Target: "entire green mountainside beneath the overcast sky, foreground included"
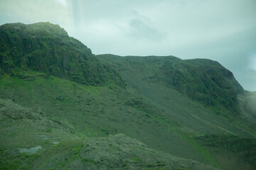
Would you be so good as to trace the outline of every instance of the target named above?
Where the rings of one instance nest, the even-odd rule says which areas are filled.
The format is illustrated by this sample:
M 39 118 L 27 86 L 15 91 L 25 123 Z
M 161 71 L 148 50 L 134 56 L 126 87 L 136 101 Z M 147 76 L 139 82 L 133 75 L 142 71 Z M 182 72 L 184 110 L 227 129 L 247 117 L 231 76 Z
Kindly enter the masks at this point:
M 0 26 L 0 169 L 255 169 L 255 93 L 212 60 L 93 55 Z

